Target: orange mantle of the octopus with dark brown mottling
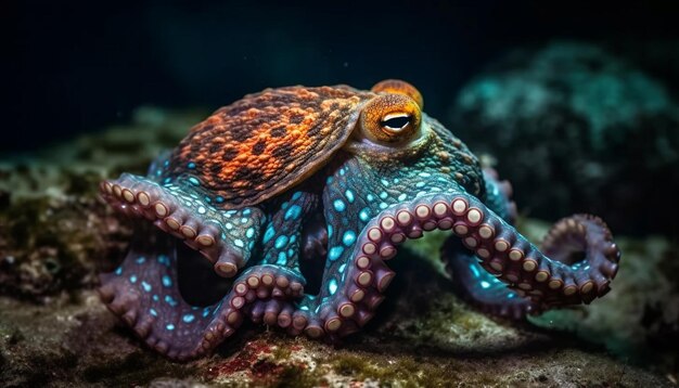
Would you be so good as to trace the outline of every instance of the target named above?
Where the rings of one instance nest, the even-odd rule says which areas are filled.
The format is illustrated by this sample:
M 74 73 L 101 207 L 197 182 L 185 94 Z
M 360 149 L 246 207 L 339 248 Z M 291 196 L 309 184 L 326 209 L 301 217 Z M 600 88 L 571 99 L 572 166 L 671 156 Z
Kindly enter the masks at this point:
M 346 86 L 248 94 L 191 129 L 172 154 L 172 173 L 194 176 L 228 207 L 260 203 L 322 167 L 372 96 Z

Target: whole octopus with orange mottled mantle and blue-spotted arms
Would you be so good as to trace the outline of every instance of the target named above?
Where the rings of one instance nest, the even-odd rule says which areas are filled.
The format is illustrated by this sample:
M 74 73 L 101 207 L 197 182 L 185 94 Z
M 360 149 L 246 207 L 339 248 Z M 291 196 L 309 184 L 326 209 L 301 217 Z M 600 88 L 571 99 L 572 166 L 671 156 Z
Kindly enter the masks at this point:
M 101 182 L 136 225 L 101 275 L 103 302 L 176 360 L 246 320 L 332 341 L 375 314 L 397 247 L 433 230 L 451 231 L 453 288 L 490 314 L 610 290 L 620 254 L 602 220 L 565 218 L 538 248 L 512 225 L 509 183 L 422 108 L 400 80 L 267 89 L 219 108 L 145 177 Z

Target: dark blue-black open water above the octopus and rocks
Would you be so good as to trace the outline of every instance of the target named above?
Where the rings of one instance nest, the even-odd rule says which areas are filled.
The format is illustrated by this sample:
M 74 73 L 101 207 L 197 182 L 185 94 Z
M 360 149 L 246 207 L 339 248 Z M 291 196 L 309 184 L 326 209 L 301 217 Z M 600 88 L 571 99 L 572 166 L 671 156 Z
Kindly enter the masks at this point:
M 446 122 L 459 88 L 512 48 L 580 39 L 643 59 L 646 43 L 677 41 L 678 15 L 658 0 L 3 1 L 0 155 L 126 122 L 140 105 L 215 108 L 297 83 L 402 78 Z M 677 86 L 663 64 L 646 70 Z

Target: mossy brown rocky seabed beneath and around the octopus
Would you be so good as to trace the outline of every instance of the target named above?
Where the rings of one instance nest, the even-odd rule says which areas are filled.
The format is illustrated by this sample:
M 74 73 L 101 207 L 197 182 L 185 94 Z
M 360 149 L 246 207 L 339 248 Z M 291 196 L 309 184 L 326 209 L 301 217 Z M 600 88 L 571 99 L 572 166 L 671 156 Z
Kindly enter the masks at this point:
M 0 160 L 0 386 L 676 386 L 679 249 L 659 236 L 616 235 L 624 260 L 606 298 L 523 324 L 453 295 L 435 233 L 392 261 L 381 313 L 342 344 L 252 325 L 190 363 L 145 349 L 93 292 L 131 233 L 97 183 L 143 172 L 203 115 L 142 108 L 129 126 Z

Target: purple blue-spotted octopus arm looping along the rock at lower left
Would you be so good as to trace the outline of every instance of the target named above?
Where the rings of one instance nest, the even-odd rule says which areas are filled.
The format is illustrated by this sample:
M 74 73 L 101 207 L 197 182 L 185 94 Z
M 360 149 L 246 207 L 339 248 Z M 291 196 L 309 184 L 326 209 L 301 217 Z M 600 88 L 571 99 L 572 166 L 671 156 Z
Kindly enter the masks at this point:
M 274 266 L 252 267 L 233 281 L 220 302 L 191 306 L 182 297 L 177 277 L 178 260 L 187 258 L 178 257 L 175 244 L 175 238 L 161 231 L 139 233 L 120 267 L 101 276 L 99 293 L 106 307 L 150 347 L 179 360 L 205 354 L 230 337 L 260 300 L 268 303 L 264 309 L 267 321 L 267 314 L 276 312 L 281 326 L 290 325 L 292 311 L 286 300 L 303 293 L 297 274 Z

